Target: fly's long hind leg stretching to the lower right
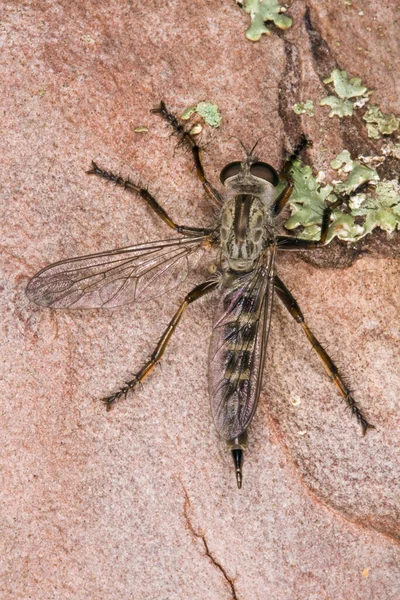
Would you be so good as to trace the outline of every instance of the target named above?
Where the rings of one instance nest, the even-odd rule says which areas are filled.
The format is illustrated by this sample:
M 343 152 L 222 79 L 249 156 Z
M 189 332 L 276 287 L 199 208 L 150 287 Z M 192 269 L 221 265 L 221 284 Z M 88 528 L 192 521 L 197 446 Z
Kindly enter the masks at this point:
M 300 325 L 302 326 L 304 333 L 308 338 L 308 341 L 312 345 L 315 352 L 318 354 L 319 358 L 322 360 L 326 372 L 338 388 L 340 394 L 344 398 L 352 414 L 355 415 L 357 421 L 360 423 L 363 435 L 366 434 L 367 429 L 375 429 L 375 426 L 368 423 L 367 419 L 364 417 L 361 410 L 358 408 L 356 401 L 354 400 L 351 394 L 351 391 L 344 383 L 335 363 L 329 357 L 327 352 L 324 350 L 320 342 L 317 340 L 313 332 L 308 327 L 307 323 L 304 321 L 303 313 L 301 312 L 300 307 L 297 304 L 295 298 L 289 292 L 289 290 L 281 281 L 281 279 L 279 279 L 279 277 L 277 276 L 275 276 L 275 290 L 280 300 L 286 306 L 292 317 L 295 319 L 295 321 L 297 321 L 297 323 L 300 323 Z

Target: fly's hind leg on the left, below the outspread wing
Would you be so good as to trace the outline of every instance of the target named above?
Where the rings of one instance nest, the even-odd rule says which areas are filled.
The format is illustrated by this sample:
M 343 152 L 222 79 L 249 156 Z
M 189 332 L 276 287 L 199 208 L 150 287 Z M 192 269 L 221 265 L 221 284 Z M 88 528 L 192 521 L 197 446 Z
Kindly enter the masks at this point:
M 134 375 L 134 377 L 130 381 L 127 381 L 126 384 L 123 387 L 121 387 L 120 390 L 118 390 L 118 392 L 115 392 L 115 394 L 112 394 L 111 396 L 102 399 L 103 402 L 105 402 L 105 404 L 107 405 L 107 410 L 110 410 L 114 402 L 116 400 L 119 400 L 121 396 L 126 397 L 130 390 L 133 390 L 138 383 L 144 381 L 147 375 L 149 375 L 149 373 L 154 369 L 156 364 L 160 362 L 164 351 L 167 347 L 167 344 L 175 329 L 177 328 L 178 323 L 181 320 L 181 317 L 186 308 L 189 306 L 189 304 L 192 304 L 192 302 L 195 302 L 199 298 L 202 298 L 206 294 L 212 292 L 218 285 L 219 282 L 215 280 L 205 281 L 204 283 L 197 285 L 195 288 L 193 288 L 191 292 L 189 292 L 186 295 L 184 301 L 172 317 L 171 321 L 168 324 L 168 327 L 165 329 L 164 333 L 159 339 L 157 346 L 155 347 L 155 350 L 150 356 L 149 360 L 143 365 L 143 367 Z

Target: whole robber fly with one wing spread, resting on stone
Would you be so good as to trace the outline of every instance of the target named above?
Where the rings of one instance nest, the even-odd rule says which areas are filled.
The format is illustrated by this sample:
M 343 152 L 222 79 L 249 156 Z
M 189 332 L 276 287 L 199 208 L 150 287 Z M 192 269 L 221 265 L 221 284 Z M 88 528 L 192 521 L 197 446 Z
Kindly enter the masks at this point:
M 293 190 L 290 170 L 307 145 L 302 139 L 278 173 L 260 162 L 252 150 L 243 161 L 226 165 L 220 179 L 223 194 L 206 178 L 201 149 L 164 102 L 153 109 L 172 127 L 180 142 L 190 148 L 203 188 L 218 206 L 214 227 L 203 229 L 177 225 L 145 188 L 123 179 L 92 162 L 88 171 L 140 196 L 176 233 L 178 238 L 128 246 L 63 260 L 42 269 L 27 287 L 28 297 L 50 308 L 112 308 L 148 300 L 182 283 L 206 249 L 216 249 L 217 273 L 192 289 L 165 329 L 150 359 L 117 392 L 104 398 L 107 409 L 126 397 L 161 360 L 186 308 L 207 294 L 217 297 L 209 361 L 211 412 L 216 430 L 231 450 L 237 485 L 242 486 L 243 453 L 247 430 L 261 392 L 272 303 L 276 294 L 301 325 L 361 425 L 363 434 L 373 428 L 358 408 L 335 364 L 304 321 L 303 314 L 275 272 L 275 257 L 285 250 L 319 248 L 326 243 L 331 209 L 324 211 L 318 241 L 276 234 L 276 219 Z M 276 187 L 283 181 L 283 191 Z

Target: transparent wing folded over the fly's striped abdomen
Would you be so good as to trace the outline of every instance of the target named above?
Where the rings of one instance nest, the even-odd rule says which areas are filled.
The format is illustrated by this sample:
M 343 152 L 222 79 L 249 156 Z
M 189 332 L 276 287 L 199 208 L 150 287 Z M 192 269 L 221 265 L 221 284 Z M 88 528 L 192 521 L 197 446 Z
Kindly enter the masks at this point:
M 232 440 L 257 408 L 273 300 L 273 256 L 222 290 L 210 345 L 210 398 L 215 427 Z

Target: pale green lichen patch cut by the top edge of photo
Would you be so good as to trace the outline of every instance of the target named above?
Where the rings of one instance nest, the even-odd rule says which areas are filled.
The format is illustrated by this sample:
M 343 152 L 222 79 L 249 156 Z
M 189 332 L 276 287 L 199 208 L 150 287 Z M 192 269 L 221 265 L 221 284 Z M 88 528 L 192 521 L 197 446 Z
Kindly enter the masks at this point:
M 270 34 L 270 30 L 265 26 L 268 21 L 272 21 L 279 29 L 288 29 L 292 25 L 292 19 L 282 14 L 285 9 L 280 6 L 278 0 L 244 0 L 238 4 L 250 14 L 251 25 L 246 31 L 246 37 L 252 42 L 257 42 L 262 34 Z

